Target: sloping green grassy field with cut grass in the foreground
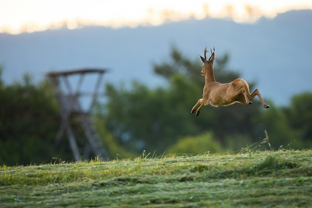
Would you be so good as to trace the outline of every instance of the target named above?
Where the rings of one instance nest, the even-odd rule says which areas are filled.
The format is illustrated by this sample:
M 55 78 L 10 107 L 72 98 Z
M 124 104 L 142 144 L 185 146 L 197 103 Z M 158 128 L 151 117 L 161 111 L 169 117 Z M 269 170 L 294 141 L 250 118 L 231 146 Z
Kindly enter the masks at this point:
M 311 208 L 312 151 L 0 167 L 1 208 Z

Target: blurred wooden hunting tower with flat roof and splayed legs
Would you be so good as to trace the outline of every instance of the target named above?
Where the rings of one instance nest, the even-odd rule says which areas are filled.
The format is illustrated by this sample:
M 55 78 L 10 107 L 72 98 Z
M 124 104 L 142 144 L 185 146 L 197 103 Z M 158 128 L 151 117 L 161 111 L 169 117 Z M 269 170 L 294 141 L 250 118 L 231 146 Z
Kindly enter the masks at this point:
M 98 97 L 99 87 L 105 72 L 107 72 L 106 69 L 78 69 L 47 73 L 50 82 L 55 88 L 55 96 L 61 107 L 62 122 L 56 136 L 56 141 L 60 141 L 64 132 L 66 132 L 75 161 L 81 160 L 82 156 L 87 158 L 92 153 L 95 156 L 100 155 L 104 159 L 108 158 L 104 144 L 93 127 L 91 120 L 91 110 Z M 93 78 L 96 75 L 95 80 L 88 83 L 88 86 L 94 86 L 94 89 L 93 92 L 84 92 L 82 84 L 85 75 L 89 74 L 92 74 Z M 74 84 L 70 82 L 72 77 L 78 78 L 75 88 L 72 87 Z M 83 99 L 80 99 L 82 96 L 91 96 L 91 103 L 87 109 L 82 108 Z M 79 147 L 77 144 L 70 117 L 77 118 L 76 120 L 81 124 L 86 136 L 86 142 L 83 147 Z

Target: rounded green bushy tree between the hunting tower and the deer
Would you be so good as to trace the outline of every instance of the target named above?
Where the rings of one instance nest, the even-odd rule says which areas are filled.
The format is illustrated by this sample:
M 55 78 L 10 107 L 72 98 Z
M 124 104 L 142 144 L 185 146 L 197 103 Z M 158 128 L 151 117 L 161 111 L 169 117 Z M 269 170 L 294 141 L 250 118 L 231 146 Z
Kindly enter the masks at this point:
M 189 91 L 180 91 L 184 88 Z M 177 137 L 196 134 L 189 112 L 183 112 L 182 101 L 198 90 L 189 81 L 176 75 L 168 89 L 149 89 L 138 82 L 133 82 L 131 89 L 106 87 L 107 128 L 124 147 L 136 152 L 163 152 Z

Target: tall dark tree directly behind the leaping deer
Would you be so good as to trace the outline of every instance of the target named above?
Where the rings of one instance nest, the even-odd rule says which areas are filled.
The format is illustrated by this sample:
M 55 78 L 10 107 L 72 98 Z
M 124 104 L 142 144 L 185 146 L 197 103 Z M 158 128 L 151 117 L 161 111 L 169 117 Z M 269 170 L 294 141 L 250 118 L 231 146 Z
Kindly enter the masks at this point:
M 216 57 L 214 61 L 214 74 L 216 81 L 220 83 L 231 82 L 240 77 L 237 71 L 228 68 L 229 54 Z M 181 74 L 185 79 L 189 80 L 193 85 L 199 88 L 200 95 L 193 99 L 189 104 L 189 111 L 193 105 L 201 98 L 202 88 L 205 79 L 200 75 L 202 62 L 200 58 L 189 60 L 183 56 L 176 47 L 172 47 L 170 60 L 162 63 L 154 63 L 154 71 L 157 75 L 165 78 L 169 83 L 175 74 Z M 253 90 L 255 83 L 250 83 L 250 89 Z M 185 101 L 183 101 L 185 102 Z M 251 138 L 259 138 L 254 132 L 254 118 L 261 113 L 262 106 L 259 100 L 253 100 L 253 105 L 234 104 L 227 107 L 204 107 L 201 115 L 196 119 L 196 126 L 199 132 L 213 131 L 221 142 L 225 143 L 225 137 L 229 134 L 246 134 Z M 205 115 L 203 113 L 206 113 Z M 247 133 L 246 133 L 247 132 Z

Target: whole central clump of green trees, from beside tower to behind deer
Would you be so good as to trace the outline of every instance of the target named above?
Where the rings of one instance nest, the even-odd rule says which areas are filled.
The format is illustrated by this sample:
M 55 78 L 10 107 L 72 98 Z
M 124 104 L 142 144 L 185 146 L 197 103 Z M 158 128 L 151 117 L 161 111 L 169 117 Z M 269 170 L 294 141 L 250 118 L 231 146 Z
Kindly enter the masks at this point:
M 228 54 L 216 58 L 217 81 L 229 82 L 239 77 L 238 72 L 228 69 L 228 59 Z M 261 113 L 262 106 L 256 99 L 253 105 L 206 106 L 200 116 L 190 114 L 202 97 L 201 65 L 199 57 L 190 60 L 173 47 L 170 60 L 154 63 L 156 74 L 168 81 L 167 87 L 150 89 L 139 82 L 133 82 L 130 88 L 108 84 L 107 129 L 121 145 L 138 153 L 156 150 L 161 154 L 179 138 L 207 131 L 214 132 L 215 139 L 223 145 L 231 134 L 258 139 L 253 120 Z

